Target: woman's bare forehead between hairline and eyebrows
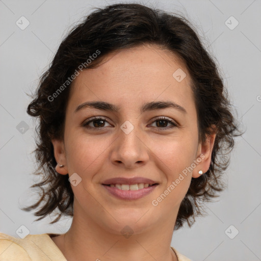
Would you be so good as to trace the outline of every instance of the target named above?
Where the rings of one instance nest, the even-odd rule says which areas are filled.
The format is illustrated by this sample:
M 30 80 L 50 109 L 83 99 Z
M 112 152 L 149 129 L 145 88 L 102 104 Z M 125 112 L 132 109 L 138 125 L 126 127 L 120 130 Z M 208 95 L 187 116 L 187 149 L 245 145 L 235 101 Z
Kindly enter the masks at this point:
M 185 105 L 193 100 L 184 62 L 155 45 L 122 49 L 106 56 L 98 67 L 80 72 L 70 96 L 70 103 L 110 99 L 125 105 L 171 98 Z

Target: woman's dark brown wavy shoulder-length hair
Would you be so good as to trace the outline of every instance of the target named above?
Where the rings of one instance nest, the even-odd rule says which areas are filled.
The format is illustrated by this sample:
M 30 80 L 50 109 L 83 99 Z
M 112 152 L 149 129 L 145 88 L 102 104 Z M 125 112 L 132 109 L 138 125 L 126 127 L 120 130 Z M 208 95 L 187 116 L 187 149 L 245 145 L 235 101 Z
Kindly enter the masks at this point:
M 56 95 L 55 101 L 50 97 L 59 88 L 61 90 L 79 65 L 86 63 L 97 50 L 99 56 L 85 69 L 98 66 L 113 51 L 141 44 L 156 44 L 170 50 L 185 63 L 192 79 L 199 140 L 204 141 L 213 132 L 211 126 L 216 126 L 210 168 L 200 177 L 192 178 L 180 204 L 174 229 L 181 227 L 184 221 L 191 226 L 195 216 L 203 213 L 202 202 L 209 201 L 224 189 L 222 174 L 229 165 L 233 137 L 241 134 L 237 133 L 238 123 L 232 115 L 232 105 L 214 59 L 186 18 L 140 4 L 115 4 L 96 8 L 74 25 L 60 44 L 49 68 L 40 77 L 28 106 L 28 114 L 39 118 L 35 149 L 38 168 L 34 174 L 40 176 L 41 182 L 31 188 L 40 189 L 41 196 L 38 202 L 22 210 L 34 210 L 43 203 L 34 213 L 40 217 L 37 221 L 55 210 L 59 210 L 58 217 L 50 223 L 59 221 L 62 215 L 73 216 L 74 195 L 69 176 L 55 170 L 57 162 L 51 143 L 51 139 L 63 139 L 71 84 Z

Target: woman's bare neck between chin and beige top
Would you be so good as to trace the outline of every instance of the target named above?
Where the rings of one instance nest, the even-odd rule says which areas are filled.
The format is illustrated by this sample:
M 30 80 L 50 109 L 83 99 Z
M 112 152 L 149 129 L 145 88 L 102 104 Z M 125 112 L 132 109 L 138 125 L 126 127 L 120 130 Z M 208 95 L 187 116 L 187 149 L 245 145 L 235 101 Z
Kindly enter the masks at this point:
M 154 224 L 153 227 L 146 227 L 146 230 L 138 227 L 139 222 L 131 226 L 120 226 L 124 228 L 118 231 L 123 233 L 101 227 L 97 222 L 82 217 L 74 209 L 70 229 L 59 240 L 53 239 L 68 261 L 177 260 L 170 248 L 174 227 L 170 217 L 160 220 L 160 224 Z

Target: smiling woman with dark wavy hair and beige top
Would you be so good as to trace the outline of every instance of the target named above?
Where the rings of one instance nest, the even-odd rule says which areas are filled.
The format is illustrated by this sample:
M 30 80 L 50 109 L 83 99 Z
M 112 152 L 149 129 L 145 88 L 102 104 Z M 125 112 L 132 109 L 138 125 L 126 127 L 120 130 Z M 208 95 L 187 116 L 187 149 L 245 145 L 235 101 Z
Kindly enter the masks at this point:
M 2 233 L 0 260 L 190 260 L 173 230 L 222 190 L 239 134 L 188 21 L 138 4 L 97 9 L 61 43 L 28 113 L 40 118 L 43 193 L 24 210 L 45 201 L 38 220 L 57 208 L 51 223 L 73 219 L 64 234 Z

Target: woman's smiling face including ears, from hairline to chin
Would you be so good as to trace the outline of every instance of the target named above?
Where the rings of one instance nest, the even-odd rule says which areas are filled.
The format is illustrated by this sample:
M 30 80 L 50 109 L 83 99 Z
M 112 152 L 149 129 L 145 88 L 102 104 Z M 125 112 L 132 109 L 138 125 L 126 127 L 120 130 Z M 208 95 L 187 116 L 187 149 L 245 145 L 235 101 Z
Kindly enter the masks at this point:
M 111 106 L 87 105 L 95 101 Z M 186 67 L 151 45 L 117 51 L 82 71 L 71 89 L 64 139 L 53 140 L 65 165 L 57 171 L 76 173 L 74 217 L 116 234 L 126 225 L 136 233 L 174 227 L 192 176 L 210 165 L 213 142 L 198 141 Z

